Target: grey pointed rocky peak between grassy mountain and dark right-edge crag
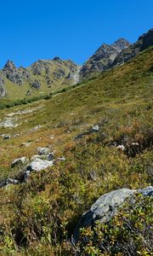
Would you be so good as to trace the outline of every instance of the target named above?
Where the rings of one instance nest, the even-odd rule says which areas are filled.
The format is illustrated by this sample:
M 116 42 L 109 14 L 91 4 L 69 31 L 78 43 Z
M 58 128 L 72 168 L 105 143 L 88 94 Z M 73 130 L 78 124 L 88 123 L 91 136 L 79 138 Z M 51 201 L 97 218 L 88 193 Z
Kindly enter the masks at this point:
M 114 44 L 102 44 L 99 49 L 96 50 L 88 61 L 86 61 L 80 70 L 80 79 L 85 79 L 89 76 L 95 75 L 105 71 L 116 58 L 122 49 L 127 49 L 129 43 L 126 39 L 119 38 Z

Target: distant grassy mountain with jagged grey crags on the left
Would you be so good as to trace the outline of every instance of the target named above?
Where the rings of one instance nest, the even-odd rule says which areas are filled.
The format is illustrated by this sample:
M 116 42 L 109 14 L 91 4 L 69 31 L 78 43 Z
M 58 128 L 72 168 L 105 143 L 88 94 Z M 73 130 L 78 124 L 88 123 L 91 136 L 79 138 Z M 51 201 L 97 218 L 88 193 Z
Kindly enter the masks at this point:
M 77 84 L 80 67 L 72 61 L 39 60 L 30 67 L 15 67 L 7 61 L 0 72 L 0 96 L 8 98 L 48 94 L 54 90 Z

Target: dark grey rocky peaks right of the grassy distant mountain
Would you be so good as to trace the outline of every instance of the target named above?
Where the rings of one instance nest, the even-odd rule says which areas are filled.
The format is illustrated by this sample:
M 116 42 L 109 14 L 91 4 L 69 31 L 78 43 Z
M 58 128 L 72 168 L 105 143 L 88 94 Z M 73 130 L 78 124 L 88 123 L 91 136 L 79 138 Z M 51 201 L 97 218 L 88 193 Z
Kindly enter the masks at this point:
M 102 44 L 95 54 L 86 61 L 80 70 L 80 80 L 94 77 L 109 68 L 122 65 L 153 45 L 153 29 L 144 33 L 134 44 L 120 38 L 114 44 Z

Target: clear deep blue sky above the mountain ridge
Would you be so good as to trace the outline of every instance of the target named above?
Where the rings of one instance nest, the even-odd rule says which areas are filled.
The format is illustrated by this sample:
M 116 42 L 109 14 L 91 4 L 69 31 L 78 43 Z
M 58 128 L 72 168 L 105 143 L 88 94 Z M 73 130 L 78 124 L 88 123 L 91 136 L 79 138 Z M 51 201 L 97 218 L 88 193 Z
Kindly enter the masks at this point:
M 8 0 L 0 9 L 0 67 L 55 55 L 82 64 L 101 44 L 134 42 L 153 26 L 153 0 Z

